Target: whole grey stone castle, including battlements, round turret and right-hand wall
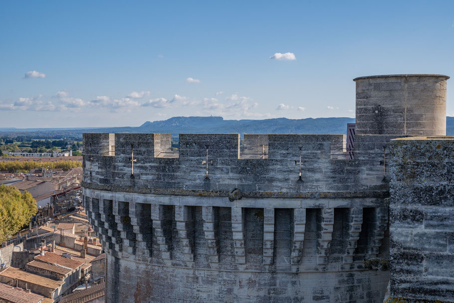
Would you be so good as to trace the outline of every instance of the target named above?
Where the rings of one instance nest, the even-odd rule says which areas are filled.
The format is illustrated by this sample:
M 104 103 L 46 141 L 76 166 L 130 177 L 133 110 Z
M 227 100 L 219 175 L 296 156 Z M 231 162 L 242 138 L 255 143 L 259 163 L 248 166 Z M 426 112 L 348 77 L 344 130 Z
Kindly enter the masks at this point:
M 84 134 L 107 302 L 381 303 L 390 273 L 393 298 L 454 301 L 453 217 L 437 225 L 454 214 L 447 79 L 356 78 L 353 148 L 346 135 L 180 134 L 175 151 L 170 134 Z

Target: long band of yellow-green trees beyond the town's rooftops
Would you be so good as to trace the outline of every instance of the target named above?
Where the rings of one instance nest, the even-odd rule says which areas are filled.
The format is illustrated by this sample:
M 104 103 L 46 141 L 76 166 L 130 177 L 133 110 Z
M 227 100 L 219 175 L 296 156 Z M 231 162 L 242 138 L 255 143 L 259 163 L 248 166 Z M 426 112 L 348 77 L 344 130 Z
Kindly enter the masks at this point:
M 44 168 L 61 168 L 68 170 L 74 167 L 82 167 L 82 162 L 72 160 L 59 160 L 53 162 L 42 161 L 3 161 L 0 162 L 0 171 L 7 171 L 9 173 L 29 172 L 31 169 L 44 167 Z M 1 221 L 0 221 L 1 223 Z

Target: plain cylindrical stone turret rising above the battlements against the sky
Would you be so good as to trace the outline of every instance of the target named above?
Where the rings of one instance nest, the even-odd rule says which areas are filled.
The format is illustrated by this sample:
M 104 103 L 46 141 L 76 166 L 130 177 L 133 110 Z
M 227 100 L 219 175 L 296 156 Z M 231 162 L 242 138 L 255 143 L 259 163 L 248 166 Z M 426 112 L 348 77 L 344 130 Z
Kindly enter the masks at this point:
M 446 135 L 446 80 L 437 74 L 358 77 L 356 134 Z

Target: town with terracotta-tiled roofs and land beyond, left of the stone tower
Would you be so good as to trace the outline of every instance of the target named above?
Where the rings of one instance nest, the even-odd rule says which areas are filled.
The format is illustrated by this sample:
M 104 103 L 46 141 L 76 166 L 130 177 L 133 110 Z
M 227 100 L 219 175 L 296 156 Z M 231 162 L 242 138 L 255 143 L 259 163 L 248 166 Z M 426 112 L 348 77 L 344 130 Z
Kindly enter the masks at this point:
M 37 207 L 1 243 L 0 302 L 104 301 L 105 255 L 82 208 L 81 153 L 75 139 L 0 136 L 0 190 L 29 193 Z

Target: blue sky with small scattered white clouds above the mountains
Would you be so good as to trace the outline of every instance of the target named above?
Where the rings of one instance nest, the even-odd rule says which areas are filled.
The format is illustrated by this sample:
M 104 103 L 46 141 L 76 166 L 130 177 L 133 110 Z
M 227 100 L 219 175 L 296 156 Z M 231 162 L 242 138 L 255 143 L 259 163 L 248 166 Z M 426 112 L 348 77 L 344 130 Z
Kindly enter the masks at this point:
M 453 50 L 451 0 L 0 0 L 0 127 L 354 117 L 353 78 L 454 76 Z

